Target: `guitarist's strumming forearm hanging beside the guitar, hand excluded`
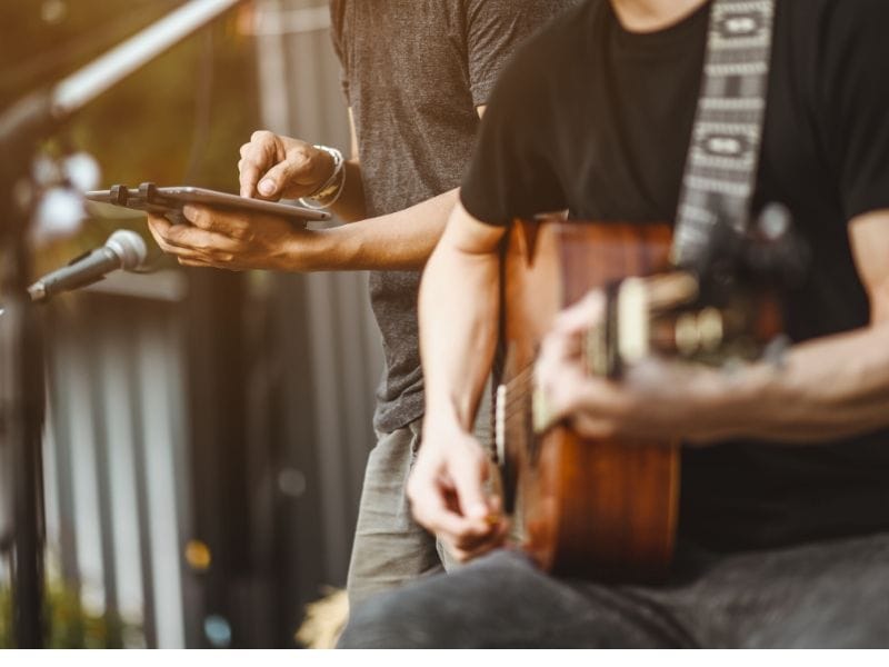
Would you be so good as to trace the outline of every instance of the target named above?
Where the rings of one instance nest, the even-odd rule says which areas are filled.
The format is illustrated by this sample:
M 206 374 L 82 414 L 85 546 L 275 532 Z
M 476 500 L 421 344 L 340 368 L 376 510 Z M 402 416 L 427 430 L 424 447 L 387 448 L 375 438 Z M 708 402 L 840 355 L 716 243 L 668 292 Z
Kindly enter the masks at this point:
M 499 256 L 467 251 L 450 229 L 423 275 L 420 351 L 427 419 L 456 419 L 469 431 L 496 347 Z

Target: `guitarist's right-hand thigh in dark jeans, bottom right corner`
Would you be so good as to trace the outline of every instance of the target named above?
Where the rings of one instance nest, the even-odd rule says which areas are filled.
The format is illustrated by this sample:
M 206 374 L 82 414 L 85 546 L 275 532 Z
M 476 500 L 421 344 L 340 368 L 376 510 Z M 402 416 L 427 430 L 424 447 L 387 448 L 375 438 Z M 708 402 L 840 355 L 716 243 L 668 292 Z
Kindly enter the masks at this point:
M 713 559 L 656 596 L 710 647 L 889 646 L 889 534 Z

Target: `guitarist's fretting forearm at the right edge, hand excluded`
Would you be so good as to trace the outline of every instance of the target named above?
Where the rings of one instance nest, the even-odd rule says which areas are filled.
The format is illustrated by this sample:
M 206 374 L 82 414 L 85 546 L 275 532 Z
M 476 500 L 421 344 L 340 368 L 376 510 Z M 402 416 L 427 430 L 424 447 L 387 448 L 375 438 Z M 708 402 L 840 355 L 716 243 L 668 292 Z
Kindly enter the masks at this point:
M 889 426 L 889 322 L 795 346 L 727 391 L 732 435 L 805 444 Z

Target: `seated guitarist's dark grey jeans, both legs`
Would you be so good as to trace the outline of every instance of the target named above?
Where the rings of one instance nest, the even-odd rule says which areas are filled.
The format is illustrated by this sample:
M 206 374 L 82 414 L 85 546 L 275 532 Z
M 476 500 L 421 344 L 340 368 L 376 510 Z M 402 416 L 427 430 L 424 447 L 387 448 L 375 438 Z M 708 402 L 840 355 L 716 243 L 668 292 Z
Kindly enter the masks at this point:
M 354 610 L 341 648 L 889 647 L 889 534 L 715 555 L 662 586 L 559 580 L 498 551 Z

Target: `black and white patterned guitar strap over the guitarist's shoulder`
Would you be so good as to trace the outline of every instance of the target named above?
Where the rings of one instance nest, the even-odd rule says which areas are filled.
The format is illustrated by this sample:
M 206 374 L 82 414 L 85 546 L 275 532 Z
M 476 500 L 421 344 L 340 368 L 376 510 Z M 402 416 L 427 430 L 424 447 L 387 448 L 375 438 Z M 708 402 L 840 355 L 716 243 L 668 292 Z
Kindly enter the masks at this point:
M 713 0 L 672 260 L 705 251 L 713 229 L 747 229 L 771 62 L 775 0 Z

